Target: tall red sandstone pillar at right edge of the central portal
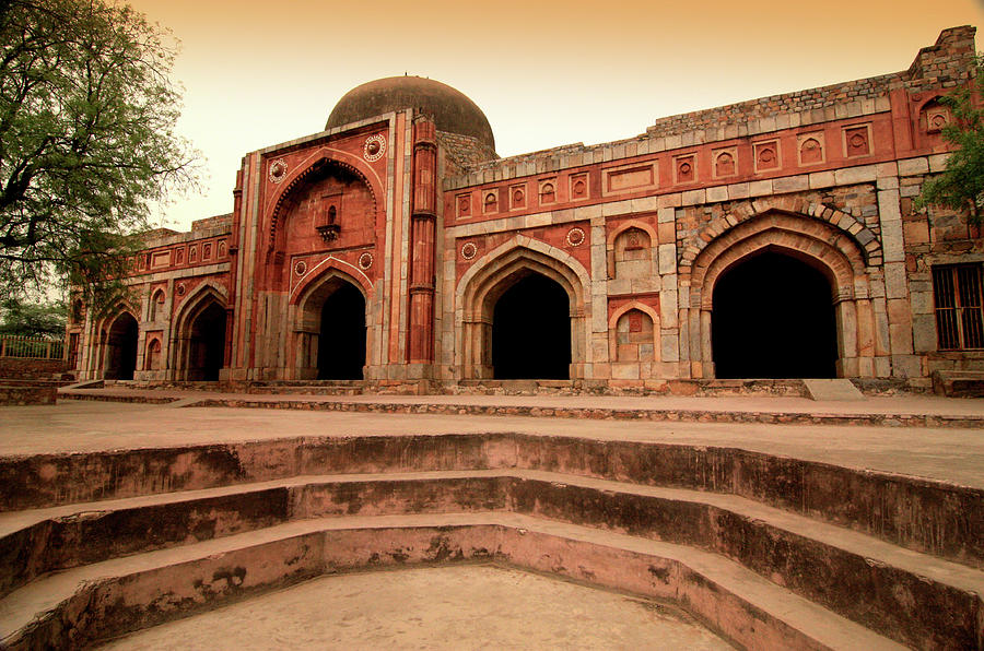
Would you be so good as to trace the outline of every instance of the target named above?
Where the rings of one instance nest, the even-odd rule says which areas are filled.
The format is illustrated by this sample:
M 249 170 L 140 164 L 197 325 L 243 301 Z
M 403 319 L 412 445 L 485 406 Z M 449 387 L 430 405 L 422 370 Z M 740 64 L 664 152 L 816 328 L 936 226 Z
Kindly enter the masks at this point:
M 413 125 L 413 208 L 410 214 L 411 364 L 434 360 L 434 258 L 437 221 L 437 140 L 434 122 Z

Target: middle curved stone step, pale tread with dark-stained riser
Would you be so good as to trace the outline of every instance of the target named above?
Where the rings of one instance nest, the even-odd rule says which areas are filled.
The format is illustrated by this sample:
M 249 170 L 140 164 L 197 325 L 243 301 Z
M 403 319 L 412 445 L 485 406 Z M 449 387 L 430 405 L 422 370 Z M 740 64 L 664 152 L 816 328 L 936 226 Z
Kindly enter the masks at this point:
M 26 569 L 2 585 L 292 519 L 496 509 L 715 552 L 917 647 L 961 648 L 980 634 L 982 571 L 734 495 L 520 470 L 295 477 L 9 513 L 0 548 Z

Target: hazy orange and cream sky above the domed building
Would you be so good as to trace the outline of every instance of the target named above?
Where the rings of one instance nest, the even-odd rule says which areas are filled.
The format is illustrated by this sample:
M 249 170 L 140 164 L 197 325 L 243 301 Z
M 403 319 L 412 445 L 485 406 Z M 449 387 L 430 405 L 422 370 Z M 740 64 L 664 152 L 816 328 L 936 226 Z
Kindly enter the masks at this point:
M 509 156 L 904 70 L 942 28 L 984 25 L 982 0 L 130 3 L 183 44 L 179 130 L 206 162 L 202 193 L 164 209 L 176 229 L 232 210 L 245 153 L 320 131 L 345 92 L 374 79 L 458 88 Z

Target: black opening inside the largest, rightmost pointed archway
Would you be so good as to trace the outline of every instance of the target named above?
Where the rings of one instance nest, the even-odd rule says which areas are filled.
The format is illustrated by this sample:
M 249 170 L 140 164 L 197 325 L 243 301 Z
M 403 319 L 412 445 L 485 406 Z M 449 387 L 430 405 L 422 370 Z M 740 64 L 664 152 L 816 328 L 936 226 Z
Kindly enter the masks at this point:
M 711 317 L 716 377 L 835 377 L 831 296 L 822 273 L 775 251 L 724 272 Z

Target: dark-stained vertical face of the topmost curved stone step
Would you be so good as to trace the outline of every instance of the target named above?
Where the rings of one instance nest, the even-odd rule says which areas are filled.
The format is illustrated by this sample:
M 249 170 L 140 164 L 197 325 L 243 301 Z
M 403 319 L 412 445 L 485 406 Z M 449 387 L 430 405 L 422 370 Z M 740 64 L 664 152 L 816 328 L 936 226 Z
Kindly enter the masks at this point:
M 743 496 L 984 568 L 984 490 L 737 448 L 527 434 L 298 437 L 0 459 L 0 509 L 306 474 L 526 469 Z

